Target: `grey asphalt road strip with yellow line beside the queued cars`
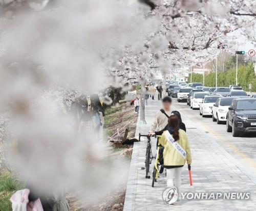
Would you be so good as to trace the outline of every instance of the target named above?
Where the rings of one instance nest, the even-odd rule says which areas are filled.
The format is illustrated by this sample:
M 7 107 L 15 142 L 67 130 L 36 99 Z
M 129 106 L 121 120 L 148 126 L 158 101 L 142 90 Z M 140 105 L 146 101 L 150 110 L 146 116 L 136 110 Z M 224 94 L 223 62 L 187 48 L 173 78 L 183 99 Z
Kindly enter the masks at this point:
M 202 117 L 199 110 L 192 110 L 186 102 L 178 102 L 173 98 L 173 109 L 177 109 L 189 119 L 197 122 L 205 133 L 210 133 L 218 139 L 218 143 L 228 151 L 234 159 L 238 160 L 252 177 L 256 175 L 256 134 L 245 134 L 242 137 L 232 137 L 227 133 L 226 125 L 218 125 L 212 121 L 211 116 Z M 256 179 L 256 177 L 255 177 Z

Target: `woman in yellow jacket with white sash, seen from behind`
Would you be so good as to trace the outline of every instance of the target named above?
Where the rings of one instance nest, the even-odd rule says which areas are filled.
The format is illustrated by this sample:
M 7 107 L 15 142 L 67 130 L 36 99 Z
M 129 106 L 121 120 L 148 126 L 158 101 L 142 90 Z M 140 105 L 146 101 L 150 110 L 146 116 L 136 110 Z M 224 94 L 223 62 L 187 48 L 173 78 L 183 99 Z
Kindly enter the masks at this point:
M 163 160 L 167 174 L 167 187 L 175 187 L 180 194 L 181 172 L 187 162 L 191 164 L 189 143 L 184 130 L 179 128 L 180 122 L 176 115 L 171 115 L 168 120 L 168 129 L 165 130 L 159 142 L 164 146 Z

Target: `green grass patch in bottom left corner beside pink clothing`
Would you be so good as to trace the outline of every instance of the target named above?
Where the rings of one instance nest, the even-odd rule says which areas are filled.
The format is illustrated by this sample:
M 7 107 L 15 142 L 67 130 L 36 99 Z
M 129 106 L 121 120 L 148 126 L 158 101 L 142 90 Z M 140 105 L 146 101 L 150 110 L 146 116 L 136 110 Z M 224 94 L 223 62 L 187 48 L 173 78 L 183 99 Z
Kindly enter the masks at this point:
M 10 173 L 0 174 L 0 210 L 11 211 L 10 198 L 12 194 L 24 187 L 25 184 L 15 179 Z

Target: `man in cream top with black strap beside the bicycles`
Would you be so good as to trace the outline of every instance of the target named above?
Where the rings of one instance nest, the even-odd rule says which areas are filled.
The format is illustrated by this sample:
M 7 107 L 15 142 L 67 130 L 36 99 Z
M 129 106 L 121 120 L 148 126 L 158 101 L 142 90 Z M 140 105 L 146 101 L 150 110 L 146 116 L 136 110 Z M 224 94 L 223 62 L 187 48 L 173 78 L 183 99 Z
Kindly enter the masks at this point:
M 172 99 L 168 96 L 162 99 L 163 109 L 156 113 L 154 122 L 151 125 L 149 135 L 155 135 L 155 131 L 162 130 L 168 124 L 168 117 L 172 114 Z

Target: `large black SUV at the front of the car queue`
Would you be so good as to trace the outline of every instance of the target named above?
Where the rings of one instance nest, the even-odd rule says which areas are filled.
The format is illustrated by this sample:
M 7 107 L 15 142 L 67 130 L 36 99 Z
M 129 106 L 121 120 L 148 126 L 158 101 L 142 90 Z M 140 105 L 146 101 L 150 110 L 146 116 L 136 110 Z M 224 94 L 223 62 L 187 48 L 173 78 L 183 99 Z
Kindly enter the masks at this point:
M 256 99 L 234 99 L 228 108 L 227 132 L 238 137 L 244 132 L 256 132 Z

